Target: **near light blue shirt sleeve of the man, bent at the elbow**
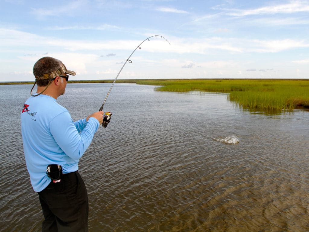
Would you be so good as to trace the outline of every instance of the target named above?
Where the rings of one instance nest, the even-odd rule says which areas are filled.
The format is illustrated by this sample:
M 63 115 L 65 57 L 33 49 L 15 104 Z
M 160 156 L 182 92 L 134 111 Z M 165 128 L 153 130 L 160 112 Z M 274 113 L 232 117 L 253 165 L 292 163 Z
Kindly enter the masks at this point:
M 86 119 L 85 119 L 86 120 Z M 79 124 L 79 123 L 77 123 Z M 89 118 L 86 126 L 79 133 L 69 112 L 63 112 L 50 122 L 50 132 L 62 151 L 74 160 L 80 159 L 90 145 L 93 135 L 99 128 L 96 118 Z M 78 128 L 77 128 L 78 127 Z

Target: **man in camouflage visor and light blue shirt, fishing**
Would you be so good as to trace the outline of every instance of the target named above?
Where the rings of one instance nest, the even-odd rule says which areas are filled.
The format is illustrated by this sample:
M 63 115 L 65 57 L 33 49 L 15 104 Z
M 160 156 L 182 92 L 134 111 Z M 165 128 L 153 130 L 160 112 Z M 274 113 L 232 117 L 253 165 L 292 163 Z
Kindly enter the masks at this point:
M 32 97 L 21 113 L 21 130 L 31 184 L 39 194 L 44 215 L 42 231 L 87 231 L 88 197 L 77 171 L 78 161 L 102 123 L 104 112 L 73 122 L 68 110 L 56 101 L 64 94 L 69 75 L 75 75 L 60 60 L 39 59 L 33 74 L 37 93 L 32 95 L 32 87 Z M 58 178 L 49 173 L 53 165 Z

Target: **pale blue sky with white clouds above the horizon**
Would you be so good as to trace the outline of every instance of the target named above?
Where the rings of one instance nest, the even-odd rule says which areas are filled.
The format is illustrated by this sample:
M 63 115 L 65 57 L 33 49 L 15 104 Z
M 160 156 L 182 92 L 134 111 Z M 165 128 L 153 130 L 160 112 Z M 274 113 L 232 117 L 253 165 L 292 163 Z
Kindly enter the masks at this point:
M 136 48 L 118 79 L 309 78 L 309 0 L 0 0 L 0 13 L 0 82 L 33 81 L 44 56 L 70 79 L 115 79 Z

